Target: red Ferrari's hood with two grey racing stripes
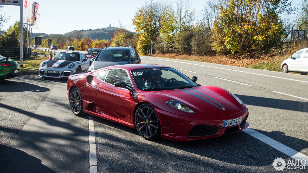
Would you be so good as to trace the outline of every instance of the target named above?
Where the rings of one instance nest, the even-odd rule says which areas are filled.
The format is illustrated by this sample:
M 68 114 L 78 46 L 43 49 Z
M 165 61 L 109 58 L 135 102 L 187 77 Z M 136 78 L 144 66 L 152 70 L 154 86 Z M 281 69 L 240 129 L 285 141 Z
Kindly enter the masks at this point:
M 218 87 L 217 87 L 218 88 Z M 219 88 L 221 91 L 223 89 Z M 196 113 L 191 116 L 201 117 L 215 117 L 224 116 L 226 114 L 232 115 L 241 111 L 242 108 L 237 106 L 236 102 L 230 101 L 232 97 L 228 91 L 223 90 L 222 95 L 230 95 L 226 98 L 219 94 L 219 92 L 212 91 L 204 86 L 180 89 L 180 90 L 168 90 L 158 91 L 161 94 L 172 96 L 175 100 L 183 103 L 184 105 L 191 108 Z M 235 109 L 237 108 L 237 109 Z

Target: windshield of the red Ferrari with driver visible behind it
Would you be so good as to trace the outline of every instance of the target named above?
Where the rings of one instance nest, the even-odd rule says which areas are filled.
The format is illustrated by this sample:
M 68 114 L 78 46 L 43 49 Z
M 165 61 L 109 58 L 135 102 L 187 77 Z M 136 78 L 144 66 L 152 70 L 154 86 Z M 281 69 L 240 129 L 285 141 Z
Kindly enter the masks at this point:
M 132 70 L 132 77 L 139 90 L 174 90 L 199 86 L 173 68 L 147 68 Z

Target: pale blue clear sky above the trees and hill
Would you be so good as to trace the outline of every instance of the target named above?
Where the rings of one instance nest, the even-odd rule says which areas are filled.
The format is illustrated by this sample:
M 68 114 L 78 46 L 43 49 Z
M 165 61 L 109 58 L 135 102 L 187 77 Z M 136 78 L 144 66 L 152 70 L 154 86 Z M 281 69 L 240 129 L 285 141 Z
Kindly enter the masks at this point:
M 122 27 L 135 31 L 132 25 L 137 10 L 146 0 L 34 0 L 39 3 L 38 13 L 40 18 L 40 30 L 33 29 L 33 33 L 64 34 L 72 30 L 97 29 L 111 26 Z M 161 1 L 166 2 L 166 1 Z M 176 0 L 169 0 L 176 5 Z M 192 0 L 191 8 L 196 14 L 202 10 L 205 0 Z M 294 4 L 302 2 L 293 0 Z M 20 20 L 20 6 L 6 5 L 2 12 L 9 17 L 4 30 Z M 120 21 L 120 22 L 119 22 Z

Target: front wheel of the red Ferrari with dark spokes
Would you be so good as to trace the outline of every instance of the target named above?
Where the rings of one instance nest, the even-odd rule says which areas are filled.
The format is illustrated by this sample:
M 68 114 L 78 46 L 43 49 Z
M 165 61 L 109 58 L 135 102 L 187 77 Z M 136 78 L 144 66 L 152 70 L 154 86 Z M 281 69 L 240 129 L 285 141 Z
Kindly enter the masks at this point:
M 144 139 L 154 140 L 160 137 L 160 121 L 155 109 L 150 104 L 138 107 L 135 114 L 136 129 Z

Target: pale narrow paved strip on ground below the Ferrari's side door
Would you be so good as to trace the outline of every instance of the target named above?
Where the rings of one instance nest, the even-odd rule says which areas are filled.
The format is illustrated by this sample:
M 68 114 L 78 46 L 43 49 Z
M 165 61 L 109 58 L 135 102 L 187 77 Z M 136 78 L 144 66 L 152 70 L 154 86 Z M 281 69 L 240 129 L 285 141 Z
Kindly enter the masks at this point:
M 93 115 L 89 115 L 89 165 L 90 173 L 97 173 L 97 156 Z

